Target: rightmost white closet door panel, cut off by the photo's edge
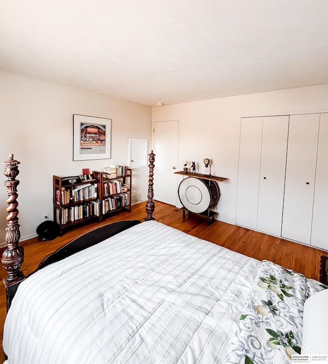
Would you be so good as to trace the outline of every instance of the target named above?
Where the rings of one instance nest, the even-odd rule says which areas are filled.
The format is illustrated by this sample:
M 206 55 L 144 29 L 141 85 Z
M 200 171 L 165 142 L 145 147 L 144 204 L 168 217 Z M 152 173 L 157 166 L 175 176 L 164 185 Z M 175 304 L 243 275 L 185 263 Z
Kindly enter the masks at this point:
M 320 114 L 311 245 L 328 250 L 328 113 Z

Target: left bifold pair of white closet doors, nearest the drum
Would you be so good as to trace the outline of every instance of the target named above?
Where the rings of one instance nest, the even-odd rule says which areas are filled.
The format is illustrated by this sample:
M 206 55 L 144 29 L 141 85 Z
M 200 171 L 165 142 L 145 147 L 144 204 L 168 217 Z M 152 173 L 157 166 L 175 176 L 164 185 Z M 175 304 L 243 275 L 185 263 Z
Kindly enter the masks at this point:
M 280 236 L 288 116 L 242 118 L 237 224 Z

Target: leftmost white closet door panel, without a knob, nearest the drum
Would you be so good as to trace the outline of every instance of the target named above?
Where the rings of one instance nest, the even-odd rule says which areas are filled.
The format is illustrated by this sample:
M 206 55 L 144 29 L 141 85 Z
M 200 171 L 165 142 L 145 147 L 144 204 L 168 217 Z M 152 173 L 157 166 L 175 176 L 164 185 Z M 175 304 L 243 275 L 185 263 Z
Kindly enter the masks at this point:
M 240 130 L 238 225 L 256 229 L 263 118 L 242 118 Z

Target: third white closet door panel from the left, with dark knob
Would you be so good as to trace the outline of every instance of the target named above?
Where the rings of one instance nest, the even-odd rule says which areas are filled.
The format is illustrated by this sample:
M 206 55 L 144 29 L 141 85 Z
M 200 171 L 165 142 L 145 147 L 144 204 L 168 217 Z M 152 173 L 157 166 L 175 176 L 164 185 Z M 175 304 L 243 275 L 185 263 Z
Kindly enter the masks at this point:
M 290 116 L 282 237 L 310 244 L 320 114 Z

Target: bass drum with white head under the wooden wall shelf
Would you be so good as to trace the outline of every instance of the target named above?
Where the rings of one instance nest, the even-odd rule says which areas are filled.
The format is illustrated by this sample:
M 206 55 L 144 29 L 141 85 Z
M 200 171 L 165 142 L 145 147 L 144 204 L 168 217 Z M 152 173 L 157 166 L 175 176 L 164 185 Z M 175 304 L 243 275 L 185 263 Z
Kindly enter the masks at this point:
M 218 203 L 220 190 L 215 181 L 188 177 L 179 184 L 178 195 L 183 207 L 201 214 Z

